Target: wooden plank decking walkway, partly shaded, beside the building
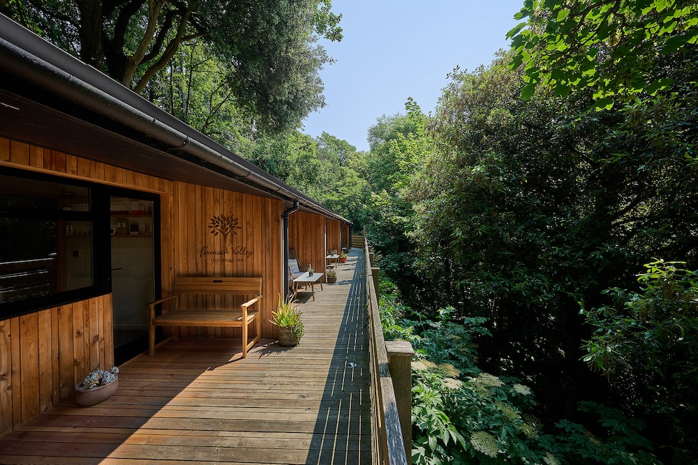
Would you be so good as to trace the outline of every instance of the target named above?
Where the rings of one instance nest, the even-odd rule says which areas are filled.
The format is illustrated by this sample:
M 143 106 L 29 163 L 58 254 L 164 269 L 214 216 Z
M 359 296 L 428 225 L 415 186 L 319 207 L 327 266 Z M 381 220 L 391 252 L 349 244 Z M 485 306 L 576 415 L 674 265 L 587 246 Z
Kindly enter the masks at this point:
M 353 249 L 336 284 L 299 295 L 299 346 L 241 358 L 239 340 L 170 343 L 122 365 L 102 404 L 61 404 L 0 438 L 0 464 L 369 464 L 363 260 Z

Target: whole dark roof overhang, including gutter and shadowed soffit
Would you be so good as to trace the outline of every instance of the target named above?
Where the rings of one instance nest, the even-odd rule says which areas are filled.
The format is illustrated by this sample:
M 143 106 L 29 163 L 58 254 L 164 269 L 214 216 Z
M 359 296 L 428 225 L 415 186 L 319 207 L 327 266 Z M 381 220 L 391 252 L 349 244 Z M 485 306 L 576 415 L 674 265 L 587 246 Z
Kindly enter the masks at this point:
M 0 135 L 349 222 L 0 15 Z

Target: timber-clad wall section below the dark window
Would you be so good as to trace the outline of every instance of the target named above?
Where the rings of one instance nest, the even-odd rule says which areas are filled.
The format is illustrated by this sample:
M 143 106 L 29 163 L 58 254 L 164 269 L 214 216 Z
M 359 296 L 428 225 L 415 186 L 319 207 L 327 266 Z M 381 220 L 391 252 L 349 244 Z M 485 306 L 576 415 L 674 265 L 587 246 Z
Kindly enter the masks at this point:
M 0 436 L 114 365 L 111 294 L 0 321 Z

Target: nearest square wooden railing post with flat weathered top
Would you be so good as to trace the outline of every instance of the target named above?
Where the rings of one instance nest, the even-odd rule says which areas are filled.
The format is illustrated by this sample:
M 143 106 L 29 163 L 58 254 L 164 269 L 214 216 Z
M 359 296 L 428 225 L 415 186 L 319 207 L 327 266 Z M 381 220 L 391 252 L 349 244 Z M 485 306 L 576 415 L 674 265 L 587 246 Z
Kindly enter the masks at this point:
M 407 463 L 412 463 L 412 358 L 415 351 L 406 341 L 385 341 L 390 377 L 395 390 L 397 413 L 400 417 L 402 439 Z

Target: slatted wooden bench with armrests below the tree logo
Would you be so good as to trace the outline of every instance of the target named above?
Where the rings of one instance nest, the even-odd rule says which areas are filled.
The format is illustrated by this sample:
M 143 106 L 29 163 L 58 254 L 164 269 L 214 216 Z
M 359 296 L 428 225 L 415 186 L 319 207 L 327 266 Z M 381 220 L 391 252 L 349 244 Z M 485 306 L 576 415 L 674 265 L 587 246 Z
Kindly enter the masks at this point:
M 235 296 L 256 296 L 240 305 L 238 309 L 186 309 L 180 308 L 182 294 L 213 295 L 225 294 Z M 172 310 L 156 317 L 155 307 L 163 302 L 174 299 Z M 213 326 L 242 328 L 242 356 L 260 340 L 262 324 L 262 278 L 261 277 L 205 277 L 182 276 L 174 280 L 172 296 L 161 298 L 148 304 L 150 312 L 150 355 L 155 354 L 156 326 Z M 257 310 L 250 307 L 257 303 Z M 248 340 L 248 328 L 256 322 L 257 335 L 251 342 Z M 179 339 L 179 328 L 174 330 L 172 338 Z

